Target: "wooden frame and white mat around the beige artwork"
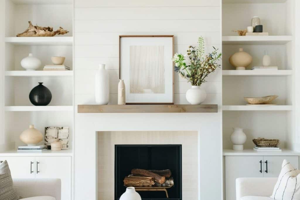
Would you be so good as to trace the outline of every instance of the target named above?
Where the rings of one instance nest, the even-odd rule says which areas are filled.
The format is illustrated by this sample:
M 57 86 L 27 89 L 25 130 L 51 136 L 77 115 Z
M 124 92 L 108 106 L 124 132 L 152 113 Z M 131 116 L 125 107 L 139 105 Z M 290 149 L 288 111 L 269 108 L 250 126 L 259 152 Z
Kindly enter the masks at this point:
M 164 82 L 164 89 L 167 88 L 167 91 L 166 90 L 164 90 L 164 91 L 167 94 L 163 94 L 163 95 L 165 95 L 164 99 L 167 99 L 167 101 L 158 101 L 158 100 L 151 101 L 153 99 L 153 97 L 155 97 L 155 95 L 156 96 L 162 96 L 161 95 L 162 93 L 159 93 L 159 94 L 154 93 L 153 97 L 150 98 L 150 101 L 146 101 L 145 99 L 141 99 L 141 101 L 139 101 L 139 100 L 132 101 L 131 100 L 130 90 L 132 90 L 132 89 L 131 89 L 131 84 L 129 84 L 130 80 L 128 80 L 128 79 L 130 79 L 130 77 L 128 77 L 128 76 L 127 77 L 122 77 L 122 74 L 126 71 L 126 69 L 124 69 L 124 67 L 122 69 L 122 61 L 124 60 L 124 59 L 122 60 L 122 55 L 125 54 L 125 53 L 126 53 L 126 55 L 130 55 L 131 50 L 126 49 L 126 52 L 124 52 L 124 49 L 123 49 L 123 54 L 122 54 L 122 38 L 124 38 L 124 39 L 126 39 L 126 38 L 137 38 L 137 40 L 141 40 L 141 38 L 145 38 L 145 39 L 147 39 L 147 38 L 149 38 L 149 39 L 150 38 L 158 38 L 158 40 L 165 40 L 167 38 L 170 38 L 171 46 L 168 45 L 167 48 L 163 49 L 163 52 L 165 52 L 166 51 L 165 49 L 167 49 L 167 51 L 169 53 L 171 52 L 171 54 L 172 54 L 172 55 L 170 54 L 170 63 L 167 63 L 168 65 L 170 65 L 170 68 L 171 68 L 171 70 L 169 68 L 167 70 L 171 74 L 170 75 L 164 74 L 164 78 L 167 77 L 167 79 L 170 79 L 170 83 L 168 81 Z M 161 39 L 159 39 L 159 38 L 161 38 Z M 153 41 L 153 39 L 150 39 L 150 40 Z M 170 41 L 168 41 L 168 42 L 170 43 Z M 143 46 L 143 45 L 139 45 L 139 46 Z M 129 47 L 131 47 L 131 46 L 129 46 Z M 140 51 L 137 51 L 137 52 L 140 52 Z M 173 58 L 173 55 L 174 55 L 174 36 L 173 35 L 120 35 L 119 36 L 119 79 L 126 78 L 126 81 L 124 80 L 125 81 L 125 87 L 126 87 L 126 104 L 174 104 L 174 73 L 173 73 L 174 64 L 173 64 L 173 61 L 171 60 Z M 168 59 L 169 54 L 167 54 L 166 57 Z M 126 59 L 127 59 L 127 57 L 126 57 Z M 130 69 L 131 68 L 130 61 L 129 61 L 129 63 L 127 61 L 127 64 L 129 66 L 128 68 Z M 169 67 L 169 66 L 165 66 L 165 64 L 164 64 L 164 70 L 165 70 L 165 67 Z M 165 71 L 164 71 L 164 73 L 165 73 Z M 124 76 L 124 74 L 123 74 L 123 76 Z M 170 85 L 166 86 L 166 84 L 171 84 L 172 88 L 171 88 Z M 170 91 L 171 91 L 171 94 L 170 94 Z M 146 96 L 147 95 L 152 96 L 152 94 L 145 94 L 145 95 Z M 172 95 L 172 97 L 169 97 L 167 95 Z M 129 96 L 129 98 L 128 98 L 128 96 Z M 143 93 L 136 92 L 134 94 L 134 96 L 135 97 L 137 96 L 137 98 L 139 98 L 139 97 L 143 96 Z

